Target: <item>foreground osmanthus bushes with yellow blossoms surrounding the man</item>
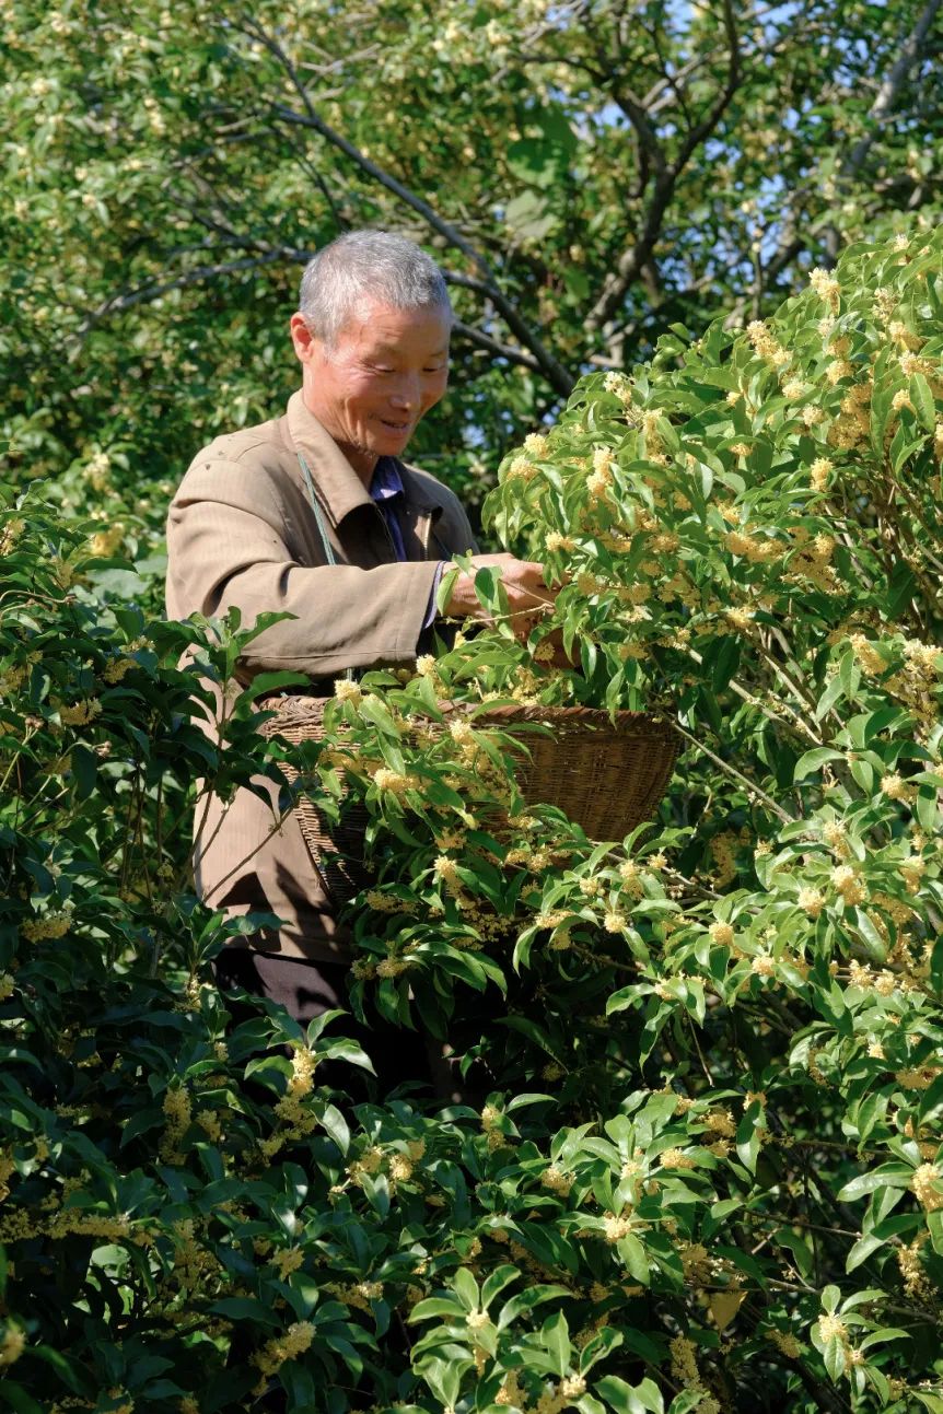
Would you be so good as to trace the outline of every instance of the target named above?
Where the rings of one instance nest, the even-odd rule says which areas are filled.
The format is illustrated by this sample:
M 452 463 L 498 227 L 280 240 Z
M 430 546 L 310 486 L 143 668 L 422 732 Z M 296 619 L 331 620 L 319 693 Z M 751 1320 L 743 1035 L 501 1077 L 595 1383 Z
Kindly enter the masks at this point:
M 339 683 L 318 745 L 259 734 L 280 679 L 201 731 L 253 626 L 148 618 L 110 527 L 8 493 L 7 1407 L 943 1408 L 942 255 L 584 379 L 488 505 L 580 670 L 484 574 L 495 626 Z M 525 805 L 508 699 L 676 720 L 656 824 Z M 459 1102 L 353 1104 L 342 1015 L 206 984 L 191 809 L 286 765 L 366 805 L 352 1005 Z

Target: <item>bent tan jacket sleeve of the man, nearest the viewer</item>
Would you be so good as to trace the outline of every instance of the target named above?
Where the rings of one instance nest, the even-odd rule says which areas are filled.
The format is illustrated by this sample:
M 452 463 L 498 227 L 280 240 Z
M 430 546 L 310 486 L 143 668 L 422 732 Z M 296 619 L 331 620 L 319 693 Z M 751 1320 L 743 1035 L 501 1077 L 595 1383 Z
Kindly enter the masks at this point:
M 437 561 L 304 566 L 286 544 L 284 515 L 264 472 L 238 462 L 194 465 L 167 522 L 167 612 L 243 624 L 288 612 L 246 646 L 247 674 L 290 669 L 328 677 L 346 667 L 410 663 L 427 612 Z

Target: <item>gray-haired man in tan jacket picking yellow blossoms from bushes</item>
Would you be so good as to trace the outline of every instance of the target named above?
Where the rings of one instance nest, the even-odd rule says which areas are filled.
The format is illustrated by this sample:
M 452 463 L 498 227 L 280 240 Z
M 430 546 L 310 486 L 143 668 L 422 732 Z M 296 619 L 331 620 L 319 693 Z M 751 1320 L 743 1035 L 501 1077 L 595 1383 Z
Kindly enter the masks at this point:
M 293 669 L 327 696 L 346 669 L 414 662 L 443 568 L 475 544 L 452 492 L 400 461 L 448 380 L 452 312 L 437 266 L 400 236 L 352 232 L 310 262 L 300 305 L 301 389 L 284 416 L 218 437 L 174 496 L 167 609 L 238 605 L 243 624 L 288 611 L 252 641 L 239 676 Z M 475 564 L 500 567 L 512 611 L 551 598 L 539 564 L 506 554 Z M 479 612 L 471 577 L 459 575 L 445 612 Z M 212 800 L 197 884 L 213 908 L 281 919 L 228 949 L 218 976 L 304 1022 L 344 1003 L 346 946 L 297 820 L 277 833 L 271 822 L 249 790 L 229 806 Z

